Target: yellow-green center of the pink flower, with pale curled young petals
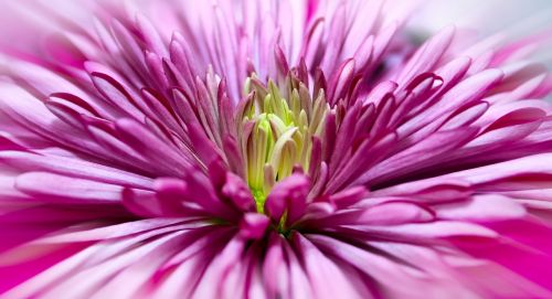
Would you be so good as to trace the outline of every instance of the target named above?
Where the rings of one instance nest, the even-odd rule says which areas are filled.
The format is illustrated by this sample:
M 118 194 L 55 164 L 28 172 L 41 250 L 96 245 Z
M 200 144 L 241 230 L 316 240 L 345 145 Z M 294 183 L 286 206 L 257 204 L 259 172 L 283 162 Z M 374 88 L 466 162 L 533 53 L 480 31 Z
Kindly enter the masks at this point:
M 280 90 L 274 82 L 265 86 L 255 76 L 245 82 L 248 97 L 238 132 L 247 184 L 261 213 L 277 181 L 294 171 L 308 171 L 312 137 L 321 134 L 329 110 L 323 90 L 312 100 L 302 83 L 289 85 Z

